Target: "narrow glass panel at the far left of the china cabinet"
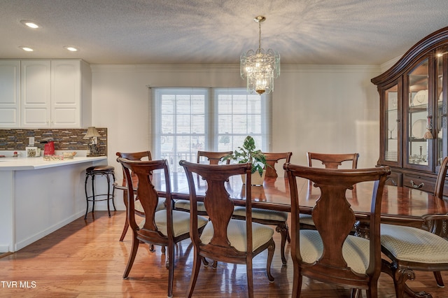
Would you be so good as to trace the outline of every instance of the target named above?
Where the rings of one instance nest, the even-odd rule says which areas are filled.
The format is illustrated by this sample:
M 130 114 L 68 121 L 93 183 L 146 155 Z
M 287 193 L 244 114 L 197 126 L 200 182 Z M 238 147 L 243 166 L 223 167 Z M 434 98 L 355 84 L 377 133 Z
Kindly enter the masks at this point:
M 398 162 L 399 144 L 398 136 L 400 136 L 400 118 L 398 118 L 399 102 L 398 102 L 398 85 L 393 85 L 387 89 L 384 94 L 386 118 L 384 132 L 384 160 L 386 162 Z

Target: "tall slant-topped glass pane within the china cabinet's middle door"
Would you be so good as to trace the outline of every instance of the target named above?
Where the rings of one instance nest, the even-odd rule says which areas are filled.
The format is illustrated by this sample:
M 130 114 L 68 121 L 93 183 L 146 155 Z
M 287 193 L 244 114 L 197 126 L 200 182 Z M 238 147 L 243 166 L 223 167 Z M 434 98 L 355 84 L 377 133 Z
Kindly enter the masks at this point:
M 433 139 L 432 104 L 428 93 L 428 59 L 420 62 L 407 75 L 407 157 L 410 167 L 427 167 L 430 157 L 430 139 Z M 406 101 L 405 101 L 406 102 Z

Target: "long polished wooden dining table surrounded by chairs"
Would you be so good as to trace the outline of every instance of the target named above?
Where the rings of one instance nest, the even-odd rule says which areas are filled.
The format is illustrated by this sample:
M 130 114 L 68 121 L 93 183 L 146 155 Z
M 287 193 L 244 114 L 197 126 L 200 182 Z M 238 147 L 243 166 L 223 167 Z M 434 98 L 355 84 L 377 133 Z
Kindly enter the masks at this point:
M 195 178 L 195 190 L 198 199 L 207 191 L 207 182 L 200 176 Z M 166 195 L 165 176 L 153 172 L 151 180 L 160 197 Z M 170 173 L 172 199 L 189 199 L 190 191 L 186 174 Z M 356 216 L 356 234 L 368 238 L 368 222 L 372 202 L 372 181 L 358 183 L 352 190 L 347 190 L 346 198 Z M 134 185 L 137 188 L 137 185 Z M 246 204 L 246 187 L 240 176 L 232 176 L 225 182 L 230 198 L 235 205 Z M 311 214 L 320 190 L 314 183 L 304 178 L 297 178 L 300 213 Z M 284 176 L 265 177 L 262 185 L 251 185 L 251 204 L 253 208 L 290 212 L 290 190 L 288 178 Z M 381 223 L 422 227 L 427 218 L 433 215 L 448 214 L 448 201 L 433 194 L 410 187 L 384 185 L 381 200 Z M 437 220 L 435 220 L 437 222 Z M 441 222 L 441 221 L 440 221 Z M 388 272 L 391 274 L 391 272 Z M 407 285 L 406 292 L 413 297 L 432 297 L 428 292 L 414 292 Z

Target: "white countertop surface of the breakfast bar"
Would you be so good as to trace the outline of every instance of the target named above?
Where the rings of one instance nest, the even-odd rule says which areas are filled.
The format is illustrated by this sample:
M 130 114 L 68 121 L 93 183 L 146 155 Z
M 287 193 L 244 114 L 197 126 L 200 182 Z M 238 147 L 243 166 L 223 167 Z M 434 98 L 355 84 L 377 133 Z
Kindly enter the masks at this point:
M 52 168 L 54 166 L 66 166 L 83 162 L 97 162 L 106 160 L 107 156 L 99 157 L 73 157 L 63 160 L 43 160 L 43 157 L 0 157 L 0 171 L 23 171 Z

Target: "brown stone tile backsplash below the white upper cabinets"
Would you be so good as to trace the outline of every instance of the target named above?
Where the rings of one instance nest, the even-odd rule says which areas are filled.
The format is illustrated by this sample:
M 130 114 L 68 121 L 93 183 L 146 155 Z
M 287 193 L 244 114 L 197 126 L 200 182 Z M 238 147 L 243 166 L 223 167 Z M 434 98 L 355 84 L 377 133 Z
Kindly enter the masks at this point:
M 97 127 L 99 155 L 107 155 L 107 128 Z M 1 150 L 25 150 L 28 138 L 34 136 L 34 146 L 41 148 L 45 139 L 53 139 L 55 150 L 87 150 L 89 139 L 83 139 L 87 129 L 0 129 Z

